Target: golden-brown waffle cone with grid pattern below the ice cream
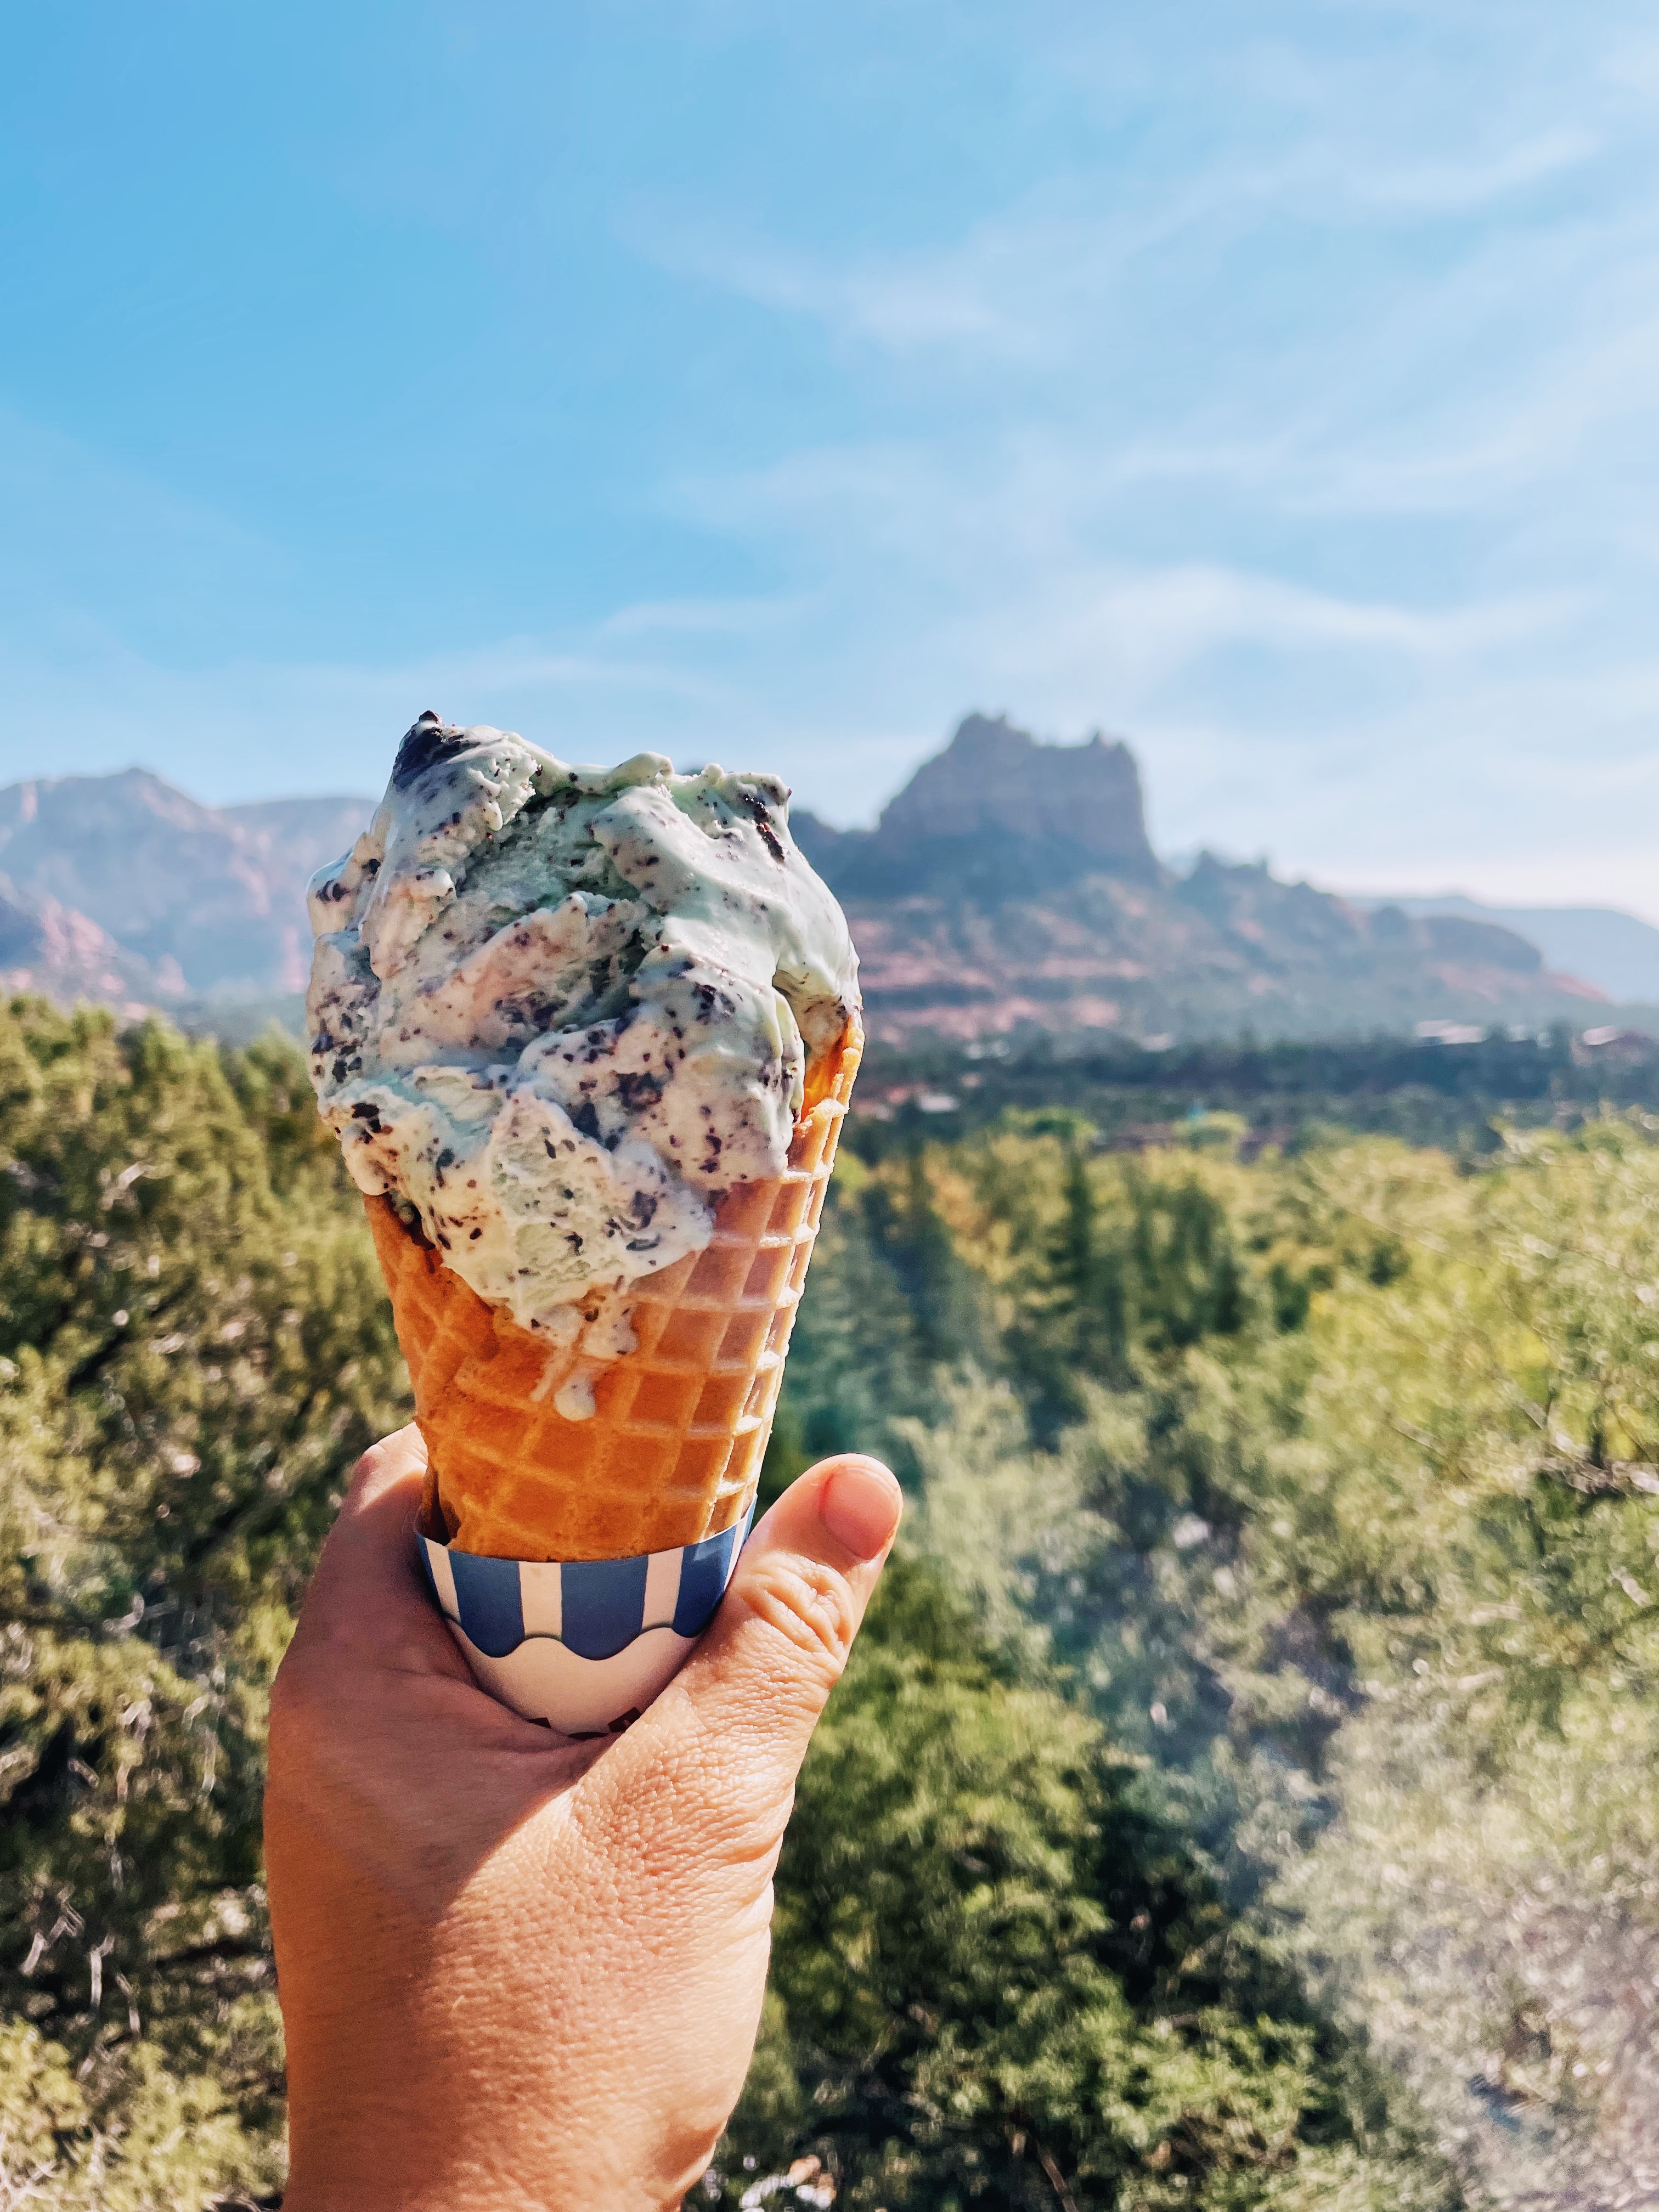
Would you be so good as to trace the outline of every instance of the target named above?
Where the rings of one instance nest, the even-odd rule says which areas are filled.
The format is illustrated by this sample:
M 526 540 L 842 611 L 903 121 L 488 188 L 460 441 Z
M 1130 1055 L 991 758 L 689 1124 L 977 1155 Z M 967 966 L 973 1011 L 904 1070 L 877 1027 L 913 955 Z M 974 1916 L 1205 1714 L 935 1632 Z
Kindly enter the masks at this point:
M 588 1369 L 586 1420 L 553 1405 L 568 1356 L 480 1298 L 389 1199 L 365 1201 L 427 1440 L 429 1535 L 495 1559 L 626 1559 L 748 1511 L 860 1051 L 854 1015 L 783 1175 L 726 1192 L 701 1252 L 630 1285 L 637 1347 Z

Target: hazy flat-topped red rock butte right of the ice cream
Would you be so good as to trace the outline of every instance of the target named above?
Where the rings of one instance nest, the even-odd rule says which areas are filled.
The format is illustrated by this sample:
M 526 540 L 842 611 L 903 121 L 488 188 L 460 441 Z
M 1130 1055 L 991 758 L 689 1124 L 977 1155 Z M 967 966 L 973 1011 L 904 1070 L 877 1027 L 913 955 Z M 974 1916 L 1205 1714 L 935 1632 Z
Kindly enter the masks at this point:
M 847 907 L 869 1029 L 894 1044 L 1398 1031 L 1599 998 L 1509 929 L 1363 914 L 1208 854 L 1177 880 L 1148 845 L 1133 754 L 1099 737 L 1040 745 L 969 714 L 876 830 L 801 814 L 794 834 Z

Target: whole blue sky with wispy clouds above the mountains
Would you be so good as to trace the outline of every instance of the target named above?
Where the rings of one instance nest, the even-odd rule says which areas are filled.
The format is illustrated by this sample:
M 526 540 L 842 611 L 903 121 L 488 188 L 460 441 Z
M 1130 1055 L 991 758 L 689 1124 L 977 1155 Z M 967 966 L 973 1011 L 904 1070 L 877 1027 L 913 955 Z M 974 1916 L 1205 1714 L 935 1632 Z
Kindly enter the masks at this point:
M 1641 0 L 13 11 L 0 774 L 425 706 L 1659 918 Z

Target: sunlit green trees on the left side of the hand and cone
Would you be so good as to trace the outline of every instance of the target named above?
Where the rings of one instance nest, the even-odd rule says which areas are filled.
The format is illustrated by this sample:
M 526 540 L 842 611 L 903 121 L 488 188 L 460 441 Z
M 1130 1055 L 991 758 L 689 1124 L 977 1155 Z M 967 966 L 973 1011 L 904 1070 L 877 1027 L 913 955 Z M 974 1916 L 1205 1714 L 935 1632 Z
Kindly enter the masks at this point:
M 0 2159 L 60 2205 L 281 2174 L 265 1690 L 405 1407 L 314 1128 L 290 1046 L 0 1013 Z

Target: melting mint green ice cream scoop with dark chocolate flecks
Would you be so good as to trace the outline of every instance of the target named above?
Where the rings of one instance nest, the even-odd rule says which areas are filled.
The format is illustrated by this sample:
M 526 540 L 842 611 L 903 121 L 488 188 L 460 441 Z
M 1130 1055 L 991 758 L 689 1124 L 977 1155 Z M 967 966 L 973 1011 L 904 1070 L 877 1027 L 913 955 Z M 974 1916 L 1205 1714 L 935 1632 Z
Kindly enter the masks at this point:
M 354 1181 L 551 1343 L 783 1170 L 807 1064 L 858 1004 L 787 799 L 422 714 L 312 880 L 312 1079 Z

